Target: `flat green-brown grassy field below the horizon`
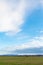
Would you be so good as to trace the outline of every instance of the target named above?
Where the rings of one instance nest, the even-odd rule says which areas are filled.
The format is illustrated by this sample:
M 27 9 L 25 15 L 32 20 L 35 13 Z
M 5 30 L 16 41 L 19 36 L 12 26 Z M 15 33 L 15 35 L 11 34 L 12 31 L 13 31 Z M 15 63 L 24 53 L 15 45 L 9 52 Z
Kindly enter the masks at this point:
M 43 56 L 0 56 L 0 65 L 43 65 Z

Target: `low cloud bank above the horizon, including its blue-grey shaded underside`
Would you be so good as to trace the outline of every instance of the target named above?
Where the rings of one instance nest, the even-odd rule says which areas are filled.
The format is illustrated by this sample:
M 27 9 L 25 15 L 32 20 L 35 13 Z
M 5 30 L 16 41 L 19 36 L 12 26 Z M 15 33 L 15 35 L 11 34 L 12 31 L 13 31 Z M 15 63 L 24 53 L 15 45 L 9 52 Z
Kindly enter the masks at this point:
M 0 55 L 3 54 L 43 54 L 43 37 L 37 36 L 26 43 L 3 47 L 0 49 Z

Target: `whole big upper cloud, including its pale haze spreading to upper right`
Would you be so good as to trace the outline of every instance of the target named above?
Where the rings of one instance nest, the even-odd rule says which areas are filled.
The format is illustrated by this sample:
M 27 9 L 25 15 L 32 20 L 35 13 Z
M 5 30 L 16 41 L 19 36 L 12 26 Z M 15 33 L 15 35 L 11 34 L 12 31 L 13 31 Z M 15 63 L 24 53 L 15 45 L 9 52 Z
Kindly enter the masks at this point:
M 22 31 L 26 10 L 30 14 L 38 5 L 34 0 L 20 0 L 18 3 L 13 1 L 0 0 L 0 32 L 5 32 L 6 35 Z

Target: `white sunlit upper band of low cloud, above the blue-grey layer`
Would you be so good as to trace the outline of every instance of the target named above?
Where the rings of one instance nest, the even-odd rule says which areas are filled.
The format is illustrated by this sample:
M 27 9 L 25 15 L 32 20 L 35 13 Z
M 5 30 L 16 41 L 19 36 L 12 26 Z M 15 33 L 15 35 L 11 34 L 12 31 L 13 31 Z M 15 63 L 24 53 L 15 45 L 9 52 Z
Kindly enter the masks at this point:
M 42 40 L 42 38 L 40 38 L 39 40 L 32 39 L 31 41 L 29 41 L 27 43 L 22 43 L 20 45 L 8 46 L 6 48 L 3 48 L 3 50 L 15 51 L 15 50 L 22 50 L 22 49 L 26 49 L 26 48 L 40 48 L 42 46 L 43 46 L 43 40 Z

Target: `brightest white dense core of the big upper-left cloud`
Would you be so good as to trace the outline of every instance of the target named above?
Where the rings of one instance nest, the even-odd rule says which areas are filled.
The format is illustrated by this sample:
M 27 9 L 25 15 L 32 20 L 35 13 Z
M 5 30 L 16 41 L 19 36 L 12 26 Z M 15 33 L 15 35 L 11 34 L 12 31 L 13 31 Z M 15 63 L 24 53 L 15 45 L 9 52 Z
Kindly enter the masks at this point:
M 18 11 L 19 7 L 16 11 L 9 10 L 10 8 L 5 2 L 0 2 L 0 32 L 20 31 L 19 27 L 23 23 L 22 13 Z

